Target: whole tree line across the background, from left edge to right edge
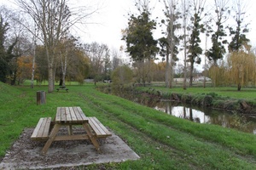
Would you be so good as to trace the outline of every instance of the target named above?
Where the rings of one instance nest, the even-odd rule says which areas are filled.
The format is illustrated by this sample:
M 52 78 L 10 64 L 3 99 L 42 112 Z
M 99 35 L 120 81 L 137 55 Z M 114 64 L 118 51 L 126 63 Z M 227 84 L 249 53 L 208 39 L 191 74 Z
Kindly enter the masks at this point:
M 123 64 L 120 51 L 110 50 L 106 44 L 97 42 L 80 44 L 79 39 L 72 36 L 72 26 L 78 23 L 86 24 L 85 19 L 96 12 L 96 9 L 88 11 L 75 8 L 74 10 L 68 6 L 67 0 L 17 0 L 16 2 L 22 9 L 21 13 L 17 14 L 3 8 L 0 14 L 2 82 L 9 81 L 15 84 L 28 77 L 32 77 L 32 82 L 34 79 L 39 82 L 47 79 L 49 92 L 52 92 L 56 80 L 62 85 L 65 85 L 66 78 L 84 82 L 85 77 L 90 77 L 98 81 L 109 79 L 115 69 L 119 70 L 119 74 L 128 70 L 126 66 L 124 70 L 119 67 Z M 232 70 L 231 68 L 235 68 L 235 64 L 230 65 L 234 62 L 230 61 L 219 65 L 219 60 L 223 59 L 226 53 L 225 46 L 229 49 L 230 57 L 239 54 L 242 60 L 247 59 L 242 52 L 251 55 L 250 50 L 243 48 L 250 47 L 247 44 L 249 40 L 245 36 L 248 30 L 244 23 L 245 10 L 242 8 L 242 1 L 232 0 L 234 7 L 228 8 L 230 4 L 228 0 L 213 0 L 211 10 L 208 10 L 209 1 L 206 0 L 161 0 L 160 2 L 163 4 L 164 14 L 164 17 L 160 18 L 163 37 L 154 39 L 153 31 L 159 25 L 157 20 L 151 19 L 147 0 L 137 1 L 139 14 L 130 14 L 128 27 L 123 30 L 126 52 L 131 57 L 137 82 L 145 84 L 165 77 L 166 87 L 172 88 L 173 68 L 177 66 L 177 60 L 181 58 L 183 51 L 183 88 L 186 88 L 187 73 L 189 73 L 189 85 L 192 86 L 194 65 L 201 63 L 201 55 L 205 51 L 208 64 L 212 65 L 208 72 L 212 74 L 210 77 L 214 84 L 218 85 L 220 76 L 216 74 L 221 72 L 217 70 L 226 68 L 228 72 Z M 19 17 L 20 14 L 23 16 L 22 19 Z M 228 14 L 234 14 L 236 23 L 236 26 L 227 28 L 230 31 L 230 42 L 227 41 L 224 26 Z M 202 35 L 205 35 L 206 39 L 211 37 L 211 48 L 207 48 L 207 44 L 205 50 L 201 48 Z M 154 59 L 159 55 L 163 58 L 163 62 L 155 64 Z M 224 79 L 228 80 L 228 78 Z M 252 82 L 254 79 L 246 80 Z M 240 82 L 239 87 L 243 84 L 244 82 Z

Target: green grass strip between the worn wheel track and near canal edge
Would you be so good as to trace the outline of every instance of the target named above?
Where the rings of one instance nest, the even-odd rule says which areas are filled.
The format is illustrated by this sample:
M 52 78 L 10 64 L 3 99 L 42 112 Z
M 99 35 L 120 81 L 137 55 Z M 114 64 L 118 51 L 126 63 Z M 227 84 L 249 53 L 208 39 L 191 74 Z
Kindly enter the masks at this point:
M 97 105 L 102 105 L 102 101 L 106 100 L 109 95 L 101 94 L 101 98 L 98 99 L 94 99 L 95 95 L 92 96 L 91 100 L 95 100 Z M 153 109 L 148 110 L 147 107 L 134 104 L 125 99 L 113 98 L 108 100 L 108 102 L 108 105 L 119 105 L 120 110 L 129 111 L 130 113 L 133 112 L 135 115 L 145 117 L 145 119 L 152 119 L 159 124 L 165 124 L 166 126 L 178 129 L 179 131 L 191 133 L 198 138 L 205 139 L 209 142 L 225 145 L 241 155 L 251 155 L 256 158 L 256 147 L 251 144 L 252 141 L 255 142 L 255 135 L 244 135 L 247 133 L 238 133 L 238 131 L 234 129 L 219 127 L 218 125 L 206 125 L 181 120 L 175 116 L 169 116 L 160 111 L 155 111 Z M 113 108 L 110 107 L 109 109 Z M 234 133 L 236 133 L 236 135 L 234 135 Z

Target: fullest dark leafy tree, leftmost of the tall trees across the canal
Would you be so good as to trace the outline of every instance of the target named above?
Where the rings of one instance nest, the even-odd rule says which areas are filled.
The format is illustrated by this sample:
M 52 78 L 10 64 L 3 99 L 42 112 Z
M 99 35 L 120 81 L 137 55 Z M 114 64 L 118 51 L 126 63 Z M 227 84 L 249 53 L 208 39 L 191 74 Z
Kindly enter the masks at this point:
M 131 14 L 128 21 L 128 28 L 123 35 L 123 40 L 126 42 L 126 52 L 130 54 L 131 59 L 135 62 L 137 67 L 139 82 L 145 82 L 150 74 L 150 65 L 144 66 L 147 61 L 154 59 L 158 53 L 157 41 L 154 40 L 152 31 L 155 29 L 156 22 L 150 20 L 150 12 L 148 8 L 148 1 L 137 3 L 137 9 L 140 14 L 137 16 Z

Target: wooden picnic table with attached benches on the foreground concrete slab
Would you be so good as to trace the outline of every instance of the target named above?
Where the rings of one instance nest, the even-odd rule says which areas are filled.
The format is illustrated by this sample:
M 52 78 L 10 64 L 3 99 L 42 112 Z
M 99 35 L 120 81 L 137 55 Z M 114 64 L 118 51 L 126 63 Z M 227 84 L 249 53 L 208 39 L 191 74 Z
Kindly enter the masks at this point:
M 73 134 L 73 125 L 82 125 L 85 132 L 83 134 Z M 56 135 L 60 127 L 68 127 L 68 135 Z M 95 117 L 87 117 L 80 107 L 58 107 L 54 121 L 51 117 L 42 117 L 35 127 L 31 139 L 46 140 L 43 154 L 46 154 L 50 144 L 58 140 L 79 140 L 90 139 L 96 150 L 100 151 L 98 139 L 106 139 L 112 134 L 104 125 Z

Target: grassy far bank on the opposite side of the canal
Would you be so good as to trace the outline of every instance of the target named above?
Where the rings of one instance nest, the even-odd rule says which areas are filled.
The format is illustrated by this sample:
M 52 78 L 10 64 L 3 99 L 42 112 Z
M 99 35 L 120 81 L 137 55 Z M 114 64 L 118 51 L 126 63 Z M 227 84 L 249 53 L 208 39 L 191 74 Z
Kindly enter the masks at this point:
M 179 88 L 138 87 L 140 92 L 160 96 L 161 99 L 182 101 L 186 104 L 207 106 L 237 114 L 256 114 L 256 89 L 243 88 Z

